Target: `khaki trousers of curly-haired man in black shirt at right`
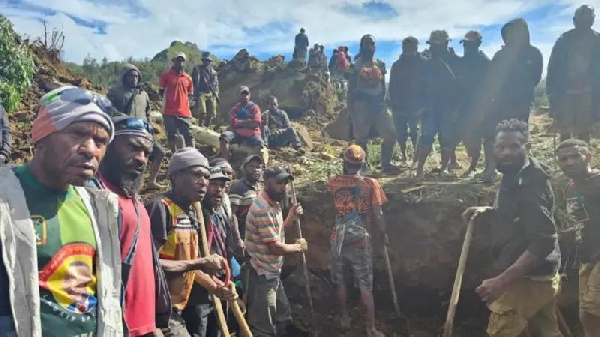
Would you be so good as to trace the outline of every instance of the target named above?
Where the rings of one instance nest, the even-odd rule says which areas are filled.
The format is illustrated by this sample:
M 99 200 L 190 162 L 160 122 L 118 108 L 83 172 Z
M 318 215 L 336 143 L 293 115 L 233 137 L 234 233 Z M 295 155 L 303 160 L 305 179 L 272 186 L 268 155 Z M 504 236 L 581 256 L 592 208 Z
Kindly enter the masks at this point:
M 511 284 L 491 310 L 487 333 L 490 337 L 515 337 L 525 330 L 532 336 L 562 337 L 556 318 L 559 277 L 547 281 L 523 278 Z

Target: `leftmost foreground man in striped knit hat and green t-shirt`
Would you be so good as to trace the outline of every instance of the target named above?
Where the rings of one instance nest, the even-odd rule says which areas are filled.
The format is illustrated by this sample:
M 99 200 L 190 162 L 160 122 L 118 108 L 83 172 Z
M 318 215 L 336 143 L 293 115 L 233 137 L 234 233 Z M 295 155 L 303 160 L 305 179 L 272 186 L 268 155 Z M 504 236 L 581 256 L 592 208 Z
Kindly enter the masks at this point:
M 47 93 L 33 158 L 0 168 L 0 335 L 123 335 L 117 198 L 83 187 L 113 138 L 110 109 L 85 89 Z

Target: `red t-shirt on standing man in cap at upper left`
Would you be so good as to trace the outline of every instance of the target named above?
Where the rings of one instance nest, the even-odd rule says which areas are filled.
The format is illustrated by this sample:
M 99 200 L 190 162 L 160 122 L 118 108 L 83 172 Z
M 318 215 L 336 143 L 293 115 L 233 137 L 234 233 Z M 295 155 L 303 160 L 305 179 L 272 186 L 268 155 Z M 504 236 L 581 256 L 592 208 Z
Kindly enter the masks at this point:
M 164 72 L 158 79 L 158 87 L 165 91 L 163 113 L 170 116 L 190 118 L 190 94 L 194 84 L 190 75 L 176 72 L 173 68 Z

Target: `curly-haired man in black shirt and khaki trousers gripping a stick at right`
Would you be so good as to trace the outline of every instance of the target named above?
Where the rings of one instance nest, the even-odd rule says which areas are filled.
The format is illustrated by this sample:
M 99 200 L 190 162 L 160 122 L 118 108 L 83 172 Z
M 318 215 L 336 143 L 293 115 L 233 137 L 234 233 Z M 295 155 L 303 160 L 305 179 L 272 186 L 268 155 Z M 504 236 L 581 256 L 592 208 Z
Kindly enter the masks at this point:
M 491 310 L 491 337 L 560 337 L 556 319 L 560 263 L 550 177 L 528 155 L 527 123 L 512 119 L 497 127 L 496 165 L 503 173 L 493 207 L 471 207 L 463 219 L 490 223 L 493 277 L 477 288 Z

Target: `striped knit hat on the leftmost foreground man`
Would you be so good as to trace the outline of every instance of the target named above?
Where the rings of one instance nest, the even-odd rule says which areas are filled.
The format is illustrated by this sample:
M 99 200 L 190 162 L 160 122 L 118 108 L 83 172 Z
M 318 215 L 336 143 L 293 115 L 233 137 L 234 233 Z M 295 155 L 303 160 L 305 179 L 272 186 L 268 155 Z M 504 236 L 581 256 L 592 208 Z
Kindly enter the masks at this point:
M 106 97 L 86 89 L 74 86 L 54 89 L 40 99 L 40 109 L 31 126 L 33 143 L 76 122 L 100 124 L 109 132 L 112 141 L 114 126 L 109 115 L 111 107 Z

